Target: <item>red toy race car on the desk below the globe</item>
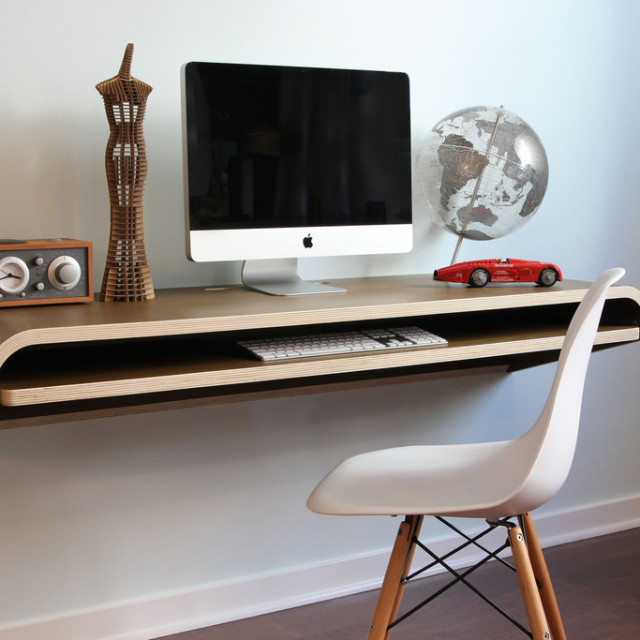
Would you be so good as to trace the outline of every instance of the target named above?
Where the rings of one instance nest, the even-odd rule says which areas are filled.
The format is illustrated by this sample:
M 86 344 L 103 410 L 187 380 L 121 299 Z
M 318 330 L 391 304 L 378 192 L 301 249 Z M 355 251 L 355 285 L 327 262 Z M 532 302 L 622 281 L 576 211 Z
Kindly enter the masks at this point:
M 466 282 L 472 287 L 484 287 L 488 282 L 537 282 L 550 287 L 562 280 L 562 272 L 550 262 L 498 258 L 458 262 L 436 269 L 433 277 L 445 282 Z

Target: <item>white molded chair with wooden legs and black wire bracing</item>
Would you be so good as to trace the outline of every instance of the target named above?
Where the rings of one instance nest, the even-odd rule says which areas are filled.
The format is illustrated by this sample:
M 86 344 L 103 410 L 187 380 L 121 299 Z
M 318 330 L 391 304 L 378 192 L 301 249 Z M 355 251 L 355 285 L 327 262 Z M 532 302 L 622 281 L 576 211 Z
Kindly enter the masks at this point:
M 563 342 L 549 398 L 523 436 L 503 442 L 408 446 L 364 453 L 335 467 L 311 493 L 307 506 L 317 513 L 406 516 L 382 584 L 370 640 L 387 638 L 399 621 L 396 616 L 405 584 L 415 575 L 410 574 L 410 567 L 416 545 L 435 559 L 429 567 L 438 563 L 454 575 L 451 585 L 462 582 L 467 586 L 471 586 L 466 580 L 469 573 L 510 545 L 531 633 L 501 613 L 535 640 L 566 637 L 529 512 L 549 500 L 569 473 L 584 380 L 602 308 L 609 287 L 623 275 L 623 269 L 605 271 L 580 303 Z M 446 562 L 450 554 L 439 558 L 418 541 L 425 515 L 442 521 L 445 517 L 486 519 L 489 528 L 473 538 L 465 536 L 463 547 L 478 546 L 488 553 L 487 558 L 464 573 L 452 569 Z M 517 524 L 510 520 L 514 517 Z M 503 547 L 491 552 L 478 543 L 487 532 L 503 525 L 508 531 Z

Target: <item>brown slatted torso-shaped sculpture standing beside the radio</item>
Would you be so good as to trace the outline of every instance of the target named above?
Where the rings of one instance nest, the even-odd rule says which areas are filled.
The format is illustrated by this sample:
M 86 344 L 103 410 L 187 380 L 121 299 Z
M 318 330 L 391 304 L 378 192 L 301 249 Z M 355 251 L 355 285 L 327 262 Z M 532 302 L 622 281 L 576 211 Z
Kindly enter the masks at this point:
M 150 300 L 155 297 L 144 248 L 142 193 L 147 177 L 142 134 L 152 87 L 131 76 L 133 44 L 128 44 L 118 75 L 96 85 L 104 99 L 111 134 L 105 157 L 111 232 L 100 299 Z

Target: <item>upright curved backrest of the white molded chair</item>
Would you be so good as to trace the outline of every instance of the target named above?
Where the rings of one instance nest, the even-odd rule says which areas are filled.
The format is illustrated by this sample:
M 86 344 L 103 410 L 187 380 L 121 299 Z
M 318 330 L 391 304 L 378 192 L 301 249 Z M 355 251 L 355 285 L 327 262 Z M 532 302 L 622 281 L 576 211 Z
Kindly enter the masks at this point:
M 511 513 L 540 506 L 555 495 L 569 475 L 578 438 L 584 381 L 602 308 L 609 287 L 623 275 L 624 269 L 619 268 L 602 273 L 569 324 L 542 413 L 530 431 L 514 442 L 513 453 L 529 465 L 529 471 L 507 501 Z

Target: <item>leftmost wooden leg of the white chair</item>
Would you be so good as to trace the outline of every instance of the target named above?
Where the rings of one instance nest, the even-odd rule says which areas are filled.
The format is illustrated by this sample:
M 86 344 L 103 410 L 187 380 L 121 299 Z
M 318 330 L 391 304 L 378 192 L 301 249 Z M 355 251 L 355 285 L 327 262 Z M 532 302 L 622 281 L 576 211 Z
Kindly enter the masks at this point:
M 422 520 L 423 516 L 407 516 L 398 529 L 398 536 L 380 588 L 368 640 L 386 640 L 391 633 L 387 628 L 400 608 L 405 587 L 403 580 L 411 568 L 416 547 L 414 540 L 420 534 Z

